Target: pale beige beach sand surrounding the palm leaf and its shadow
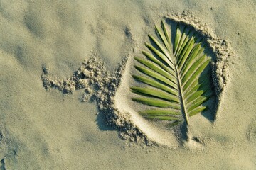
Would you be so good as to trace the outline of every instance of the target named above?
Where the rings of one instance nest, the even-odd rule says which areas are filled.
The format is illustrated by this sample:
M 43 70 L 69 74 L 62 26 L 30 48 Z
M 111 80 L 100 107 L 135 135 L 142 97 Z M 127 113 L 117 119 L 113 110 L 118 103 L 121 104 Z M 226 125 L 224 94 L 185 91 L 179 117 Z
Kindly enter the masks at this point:
M 255 7 L 1 1 L 1 169 L 256 169 Z M 227 44 L 213 49 L 223 59 L 216 118 L 192 117 L 192 142 L 155 128 L 129 101 L 132 58 L 166 17 Z

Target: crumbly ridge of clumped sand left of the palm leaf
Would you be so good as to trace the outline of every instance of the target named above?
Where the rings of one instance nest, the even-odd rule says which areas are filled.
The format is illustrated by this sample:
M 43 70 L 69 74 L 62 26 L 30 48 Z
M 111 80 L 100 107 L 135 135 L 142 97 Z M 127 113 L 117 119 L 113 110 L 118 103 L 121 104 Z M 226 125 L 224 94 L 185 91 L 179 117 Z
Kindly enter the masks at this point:
M 128 58 L 128 57 L 127 57 Z M 73 94 L 75 90 L 85 89 L 81 101 L 95 101 L 98 110 L 104 114 L 105 122 L 119 131 L 119 137 L 124 140 L 142 142 L 153 145 L 139 129 L 129 120 L 129 113 L 121 113 L 114 104 L 114 96 L 119 87 L 127 58 L 119 62 L 113 74 L 107 71 L 105 63 L 96 53 L 89 60 L 82 62 L 81 67 L 68 79 L 60 79 L 50 74 L 50 69 L 43 66 L 41 79 L 47 90 L 55 88 L 63 94 Z

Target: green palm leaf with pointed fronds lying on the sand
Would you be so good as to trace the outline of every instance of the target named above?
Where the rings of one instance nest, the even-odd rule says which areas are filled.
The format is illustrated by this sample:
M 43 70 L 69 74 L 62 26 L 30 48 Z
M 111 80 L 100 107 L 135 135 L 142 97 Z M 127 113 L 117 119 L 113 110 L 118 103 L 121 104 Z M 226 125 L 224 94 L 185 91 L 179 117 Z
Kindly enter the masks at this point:
M 169 120 L 170 125 L 185 121 L 204 111 L 212 92 L 210 58 L 206 56 L 200 38 L 189 27 L 177 26 L 174 43 L 164 22 L 156 26 L 158 38 L 149 35 L 151 43 L 145 43 L 149 52 L 145 57 L 134 57 L 139 75 L 132 77 L 146 84 L 134 86 L 131 91 L 139 95 L 133 101 L 151 106 L 139 111 L 150 120 Z

